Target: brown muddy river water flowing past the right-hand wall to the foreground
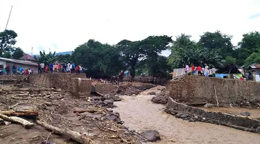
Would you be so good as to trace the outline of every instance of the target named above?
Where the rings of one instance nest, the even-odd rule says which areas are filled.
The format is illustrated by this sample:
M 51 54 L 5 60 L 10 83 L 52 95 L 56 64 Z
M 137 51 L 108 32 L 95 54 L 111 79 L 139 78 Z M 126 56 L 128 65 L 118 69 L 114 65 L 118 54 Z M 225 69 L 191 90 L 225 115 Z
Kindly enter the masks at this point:
M 159 92 L 155 87 L 138 96 L 122 96 L 115 102 L 114 111 L 119 112 L 125 126 L 141 132 L 155 129 L 162 137 L 159 144 L 169 143 L 260 143 L 260 134 L 243 132 L 230 127 L 210 123 L 191 123 L 164 113 L 164 105 L 153 104 L 149 91 Z

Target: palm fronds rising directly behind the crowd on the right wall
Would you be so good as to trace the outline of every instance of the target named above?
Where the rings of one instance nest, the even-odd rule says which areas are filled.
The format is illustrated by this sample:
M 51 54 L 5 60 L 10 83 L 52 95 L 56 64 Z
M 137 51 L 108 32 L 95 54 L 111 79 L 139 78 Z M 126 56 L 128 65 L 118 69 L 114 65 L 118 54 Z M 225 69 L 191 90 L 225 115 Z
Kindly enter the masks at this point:
M 168 57 L 168 64 L 173 68 L 184 67 L 185 64 L 195 64 L 220 67 L 223 66 L 221 55 L 214 49 L 202 48 L 196 42 L 190 40 L 189 35 L 180 35 L 171 46 L 171 55 Z

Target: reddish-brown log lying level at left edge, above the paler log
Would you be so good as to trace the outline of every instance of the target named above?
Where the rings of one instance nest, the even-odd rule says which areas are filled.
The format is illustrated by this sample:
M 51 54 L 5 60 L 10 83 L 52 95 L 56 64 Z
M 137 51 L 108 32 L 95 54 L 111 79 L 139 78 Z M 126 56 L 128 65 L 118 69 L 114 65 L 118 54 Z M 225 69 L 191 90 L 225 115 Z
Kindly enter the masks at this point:
M 0 111 L 0 114 L 6 116 L 39 116 L 38 111 L 22 110 L 22 111 Z

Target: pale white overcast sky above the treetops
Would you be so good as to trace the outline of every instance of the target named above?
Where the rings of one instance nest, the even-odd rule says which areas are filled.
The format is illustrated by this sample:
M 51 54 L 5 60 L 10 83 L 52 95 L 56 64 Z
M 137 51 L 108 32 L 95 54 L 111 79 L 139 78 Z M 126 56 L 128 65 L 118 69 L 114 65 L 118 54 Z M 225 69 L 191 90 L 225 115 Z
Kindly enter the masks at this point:
M 198 42 L 220 30 L 233 35 L 260 31 L 260 0 L 0 0 L 0 32 L 13 5 L 7 29 L 17 33 L 26 53 L 73 51 L 89 39 L 117 44 L 122 39 L 181 33 Z M 162 55 L 169 55 L 164 51 Z

